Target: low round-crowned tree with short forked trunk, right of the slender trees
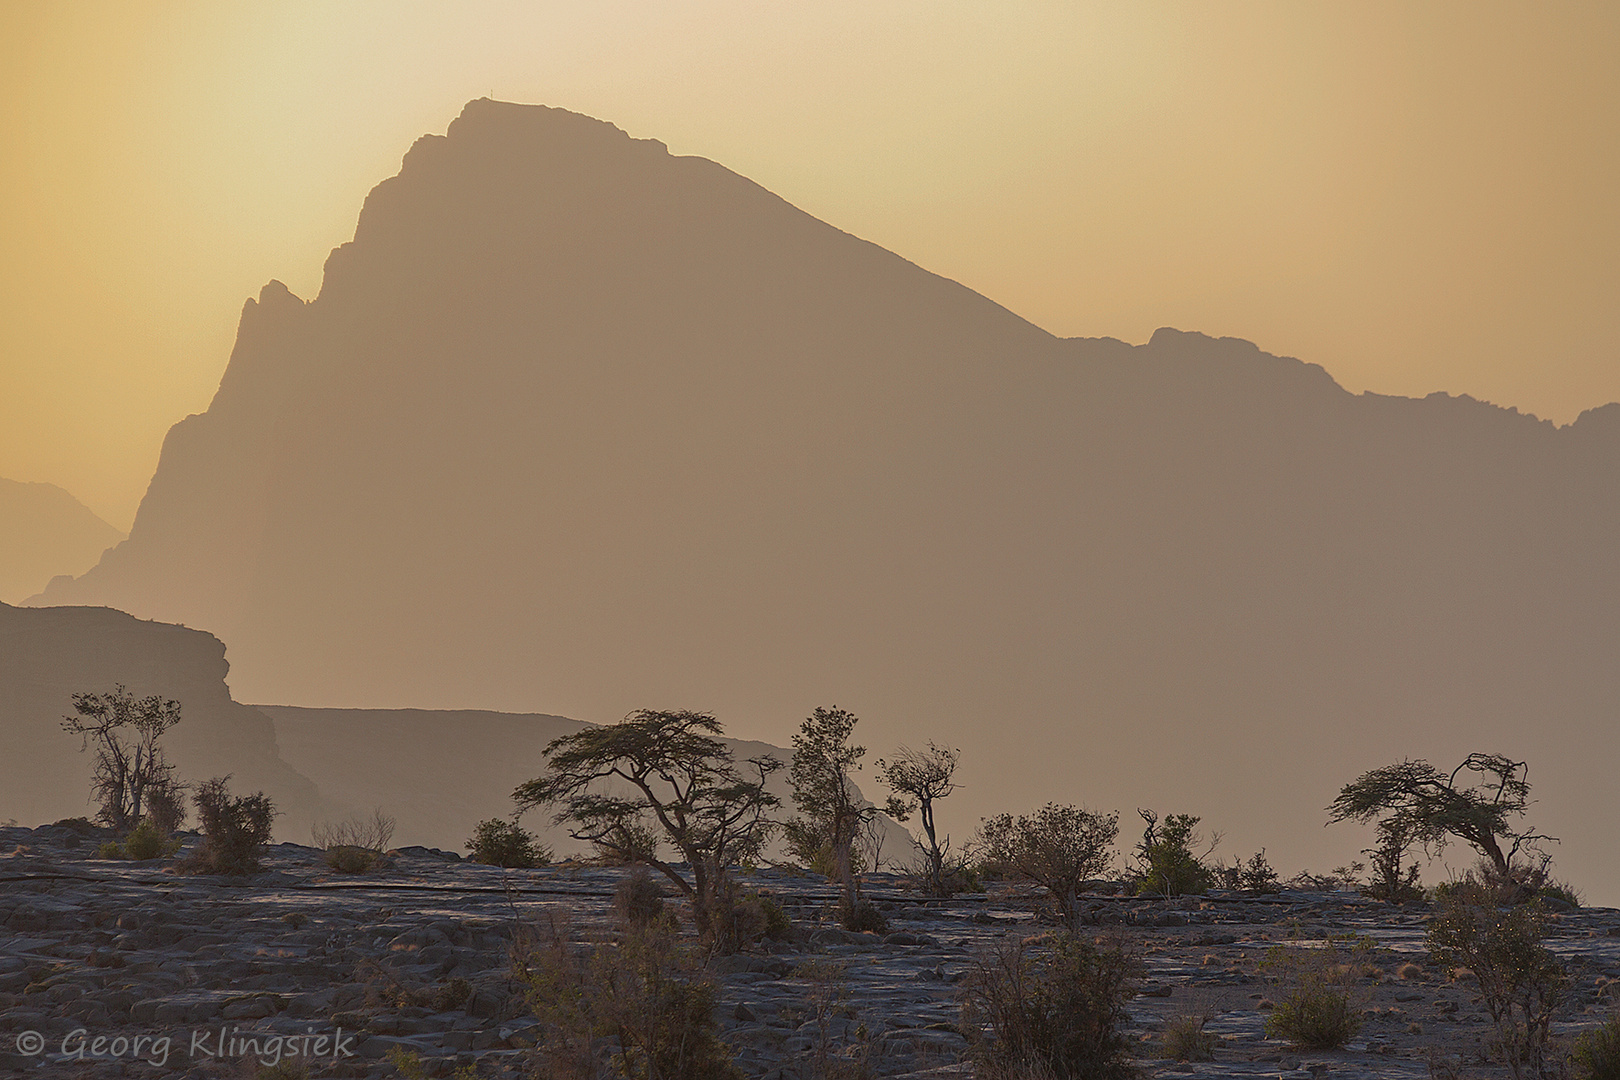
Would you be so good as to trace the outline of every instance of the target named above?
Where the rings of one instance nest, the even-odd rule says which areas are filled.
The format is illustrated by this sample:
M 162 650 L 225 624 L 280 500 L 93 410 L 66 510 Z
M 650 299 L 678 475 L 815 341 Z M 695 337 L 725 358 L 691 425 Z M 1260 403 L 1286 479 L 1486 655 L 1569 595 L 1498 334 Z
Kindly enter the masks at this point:
M 1081 886 L 1108 868 L 1119 814 L 1047 803 L 1032 814 L 988 818 L 978 852 L 995 870 L 1045 886 L 1066 926 L 1081 923 Z

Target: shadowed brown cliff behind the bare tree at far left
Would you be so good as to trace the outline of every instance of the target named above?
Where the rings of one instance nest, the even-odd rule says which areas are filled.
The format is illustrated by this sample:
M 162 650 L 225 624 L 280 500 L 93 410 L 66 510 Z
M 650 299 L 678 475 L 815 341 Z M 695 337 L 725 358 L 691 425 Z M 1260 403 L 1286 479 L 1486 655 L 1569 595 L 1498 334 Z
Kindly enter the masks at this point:
M 138 698 L 181 704 L 164 746 L 181 782 L 232 774 L 232 790 L 264 790 L 280 816 L 275 832 L 308 842 L 313 821 L 339 813 L 277 753 L 275 729 L 230 699 L 225 646 L 185 627 L 143 622 L 104 607 L 0 604 L 0 819 L 36 826 L 94 818 L 94 748 L 62 730 L 75 693 L 123 683 Z M 193 819 L 193 826 L 196 821 Z

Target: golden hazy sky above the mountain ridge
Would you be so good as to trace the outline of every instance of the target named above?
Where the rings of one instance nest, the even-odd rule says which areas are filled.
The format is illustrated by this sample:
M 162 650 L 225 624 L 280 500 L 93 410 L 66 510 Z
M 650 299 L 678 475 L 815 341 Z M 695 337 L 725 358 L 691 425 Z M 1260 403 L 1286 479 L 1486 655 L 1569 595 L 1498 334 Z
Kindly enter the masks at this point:
M 0 476 L 126 528 L 246 296 L 473 97 L 561 105 L 1061 335 L 1620 400 L 1620 5 L 0 5 Z

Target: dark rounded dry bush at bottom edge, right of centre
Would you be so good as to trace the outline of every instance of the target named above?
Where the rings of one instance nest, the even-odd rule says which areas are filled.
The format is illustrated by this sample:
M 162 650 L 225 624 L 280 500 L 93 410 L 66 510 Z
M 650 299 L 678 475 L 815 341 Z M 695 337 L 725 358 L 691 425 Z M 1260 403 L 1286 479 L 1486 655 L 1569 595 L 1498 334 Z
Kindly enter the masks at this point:
M 1136 1075 L 1121 1035 L 1137 963 L 1072 931 L 1003 942 L 962 983 L 962 1035 L 988 1080 Z

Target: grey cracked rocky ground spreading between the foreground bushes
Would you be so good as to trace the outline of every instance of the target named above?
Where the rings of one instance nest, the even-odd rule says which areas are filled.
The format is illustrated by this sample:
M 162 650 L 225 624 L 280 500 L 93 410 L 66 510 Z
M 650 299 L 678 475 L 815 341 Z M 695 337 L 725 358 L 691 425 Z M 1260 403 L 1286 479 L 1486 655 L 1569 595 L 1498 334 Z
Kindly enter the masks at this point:
M 100 860 L 102 839 L 0 829 L 0 1072 L 254 1077 L 269 1072 L 256 1057 L 279 1046 L 282 1077 L 397 1075 L 395 1048 L 418 1054 L 424 1075 L 518 1074 L 535 1018 L 509 976 L 514 934 L 609 936 L 612 891 L 629 873 L 502 871 L 402 848 L 387 868 L 350 876 L 284 844 L 267 873 L 227 879 Z M 1043 929 L 1038 897 L 1019 889 L 935 902 L 872 876 L 889 933 L 852 934 L 831 923 L 833 892 L 818 878 L 765 871 L 747 884 L 795 925 L 794 941 L 710 963 L 724 1038 L 750 1077 L 812 1080 L 821 1051 L 873 1077 L 970 1077 L 957 984 L 975 955 Z M 1502 1075 L 1484 1062 L 1489 1020 L 1471 984 L 1427 965 L 1422 910 L 1351 892 L 1098 894 L 1087 918 L 1144 962 L 1129 1035 L 1145 1075 L 1429 1077 L 1432 1056 L 1461 1075 Z M 1361 1035 L 1335 1052 L 1265 1038 L 1267 1009 L 1286 991 L 1260 967 L 1267 950 L 1338 934 L 1375 942 Z M 1547 944 L 1575 981 L 1558 1031 L 1614 1015 L 1620 912 L 1554 915 Z M 1181 1015 L 1210 1017 L 1213 1062 L 1158 1057 L 1165 1023 Z

